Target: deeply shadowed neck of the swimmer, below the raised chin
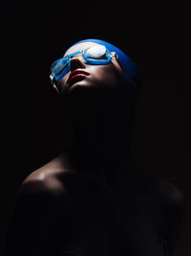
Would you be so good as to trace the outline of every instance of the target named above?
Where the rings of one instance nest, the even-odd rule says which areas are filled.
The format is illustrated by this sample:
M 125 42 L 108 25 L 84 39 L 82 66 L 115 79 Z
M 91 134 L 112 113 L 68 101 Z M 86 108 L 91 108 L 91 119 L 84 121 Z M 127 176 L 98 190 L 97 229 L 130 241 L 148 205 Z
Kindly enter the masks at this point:
M 76 105 L 76 99 L 74 103 Z M 68 128 L 66 151 L 75 170 L 104 176 L 114 182 L 117 175 L 120 175 L 118 169 L 121 169 L 121 165 L 123 169 L 124 165 L 128 168 L 130 134 L 128 128 L 121 124 L 117 107 L 112 109 L 107 104 L 103 107 L 100 102 L 96 106 L 89 102 L 87 107 L 87 102 L 84 104 L 81 101 L 78 102 L 80 107 L 73 108 L 72 104 L 70 111 L 66 109 L 69 113 L 64 121 Z

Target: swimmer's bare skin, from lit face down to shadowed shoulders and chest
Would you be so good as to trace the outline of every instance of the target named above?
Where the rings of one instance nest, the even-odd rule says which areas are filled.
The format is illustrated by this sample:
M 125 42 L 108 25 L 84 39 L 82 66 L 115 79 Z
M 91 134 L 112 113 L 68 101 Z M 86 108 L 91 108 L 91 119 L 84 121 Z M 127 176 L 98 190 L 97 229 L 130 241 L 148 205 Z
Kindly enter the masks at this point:
M 63 99 L 68 148 L 24 180 L 5 256 L 173 255 L 184 200 L 174 185 L 145 175 L 130 159 L 121 69 L 116 60 L 94 66 L 75 56 L 71 72 L 81 69 L 90 75 L 69 84 L 69 72 L 59 84 L 61 94 L 66 87 L 69 93 Z

